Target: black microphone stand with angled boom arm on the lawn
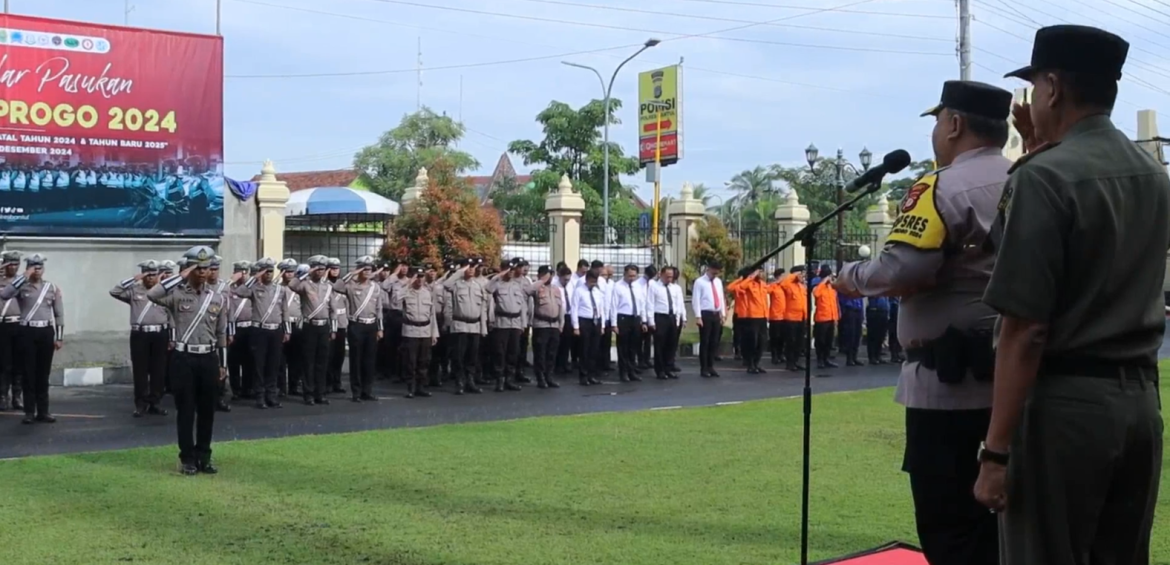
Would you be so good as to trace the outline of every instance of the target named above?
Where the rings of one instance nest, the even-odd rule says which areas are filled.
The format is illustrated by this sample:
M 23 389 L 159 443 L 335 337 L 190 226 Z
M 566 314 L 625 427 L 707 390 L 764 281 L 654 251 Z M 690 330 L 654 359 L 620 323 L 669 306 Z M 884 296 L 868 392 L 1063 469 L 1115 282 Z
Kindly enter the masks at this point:
M 830 220 L 853 209 L 853 207 L 863 198 L 878 192 L 881 188 L 881 179 L 876 179 L 873 184 L 866 186 L 863 190 L 859 191 L 852 200 L 838 206 L 823 218 L 808 223 L 807 226 L 800 228 L 799 232 L 792 235 L 789 241 L 785 241 L 780 247 L 773 249 L 768 255 L 764 255 L 759 261 L 755 263 L 752 270 L 763 266 L 768 260 L 779 255 L 785 249 L 800 243 L 800 247 L 805 249 L 805 273 L 812 270 L 813 261 L 813 249 L 817 248 L 817 229 L 819 229 Z M 841 266 L 837 266 L 838 269 Z M 811 277 L 810 277 L 811 278 Z M 805 283 L 805 312 L 807 316 L 812 316 L 812 284 Z M 808 455 L 812 450 L 812 332 L 808 331 L 808 321 L 803 322 L 803 331 L 807 331 L 805 335 L 805 386 L 803 394 L 804 402 L 804 446 L 801 448 L 801 477 L 800 477 L 800 565 L 808 565 L 808 483 L 810 483 L 810 466 Z

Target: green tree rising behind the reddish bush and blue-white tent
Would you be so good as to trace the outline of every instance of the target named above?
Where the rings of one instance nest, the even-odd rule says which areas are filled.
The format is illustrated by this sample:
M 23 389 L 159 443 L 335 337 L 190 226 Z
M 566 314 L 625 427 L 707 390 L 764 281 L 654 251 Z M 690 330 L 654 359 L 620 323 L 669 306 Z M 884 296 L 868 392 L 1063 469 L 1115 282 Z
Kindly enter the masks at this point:
M 353 157 L 353 168 L 371 191 L 399 200 L 414 185 L 421 167 L 429 170 L 443 160 L 456 174 L 462 174 L 480 166 L 469 153 L 455 149 L 463 133 L 463 124 L 424 108 L 402 116 L 398 126 L 383 133 L 378 143 L 359 151 Z

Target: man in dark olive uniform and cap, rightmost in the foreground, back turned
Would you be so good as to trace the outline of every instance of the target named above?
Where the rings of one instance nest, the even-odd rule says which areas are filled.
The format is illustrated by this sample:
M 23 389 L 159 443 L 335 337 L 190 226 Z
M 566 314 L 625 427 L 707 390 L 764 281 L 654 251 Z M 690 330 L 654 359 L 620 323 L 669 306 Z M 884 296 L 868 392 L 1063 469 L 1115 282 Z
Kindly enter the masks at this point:
M 1109 119 L 1128 51 L 1046 27 L 1007 75 L 1034 90 L 990 240 L 983 299 L 1000 321 L 975 488 L 1003 512 L 1005 565 L 1150 563 L 1170 179 Z

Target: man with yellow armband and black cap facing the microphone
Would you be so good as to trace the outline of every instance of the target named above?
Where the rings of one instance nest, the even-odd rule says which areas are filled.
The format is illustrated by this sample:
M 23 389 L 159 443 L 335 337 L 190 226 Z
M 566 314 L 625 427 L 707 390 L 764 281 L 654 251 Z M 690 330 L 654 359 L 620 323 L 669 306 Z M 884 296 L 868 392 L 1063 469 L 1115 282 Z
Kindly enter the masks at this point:
M 931 564 L 994 564 L 996 517 L 978 504 L 973 456 L 991 406 L 990 329 L 979 298 L 994 257 L 985 252 L 1010 163 L 1011 92 L 948 81 L 931 136 L 942 168 L 907 192 L 882 252 L 844 266 L 845 296 L 902 296 L 907 345 L 895 400 L 906 406 L 906 454 L 918 540 Z

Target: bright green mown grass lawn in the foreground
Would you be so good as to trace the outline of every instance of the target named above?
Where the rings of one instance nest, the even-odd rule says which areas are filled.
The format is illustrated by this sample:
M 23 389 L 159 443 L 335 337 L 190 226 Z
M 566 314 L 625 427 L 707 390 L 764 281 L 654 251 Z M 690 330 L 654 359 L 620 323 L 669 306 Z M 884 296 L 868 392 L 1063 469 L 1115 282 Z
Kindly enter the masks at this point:
M 233 442 L 194 478 L 174 448 L 2 461 L 0 563 L 791 564 L 800 421 L 771 400 Z M 889 390 L 815 399 L 813 558 L 916 539 L 901 421 Z

